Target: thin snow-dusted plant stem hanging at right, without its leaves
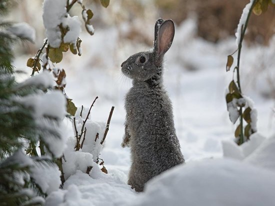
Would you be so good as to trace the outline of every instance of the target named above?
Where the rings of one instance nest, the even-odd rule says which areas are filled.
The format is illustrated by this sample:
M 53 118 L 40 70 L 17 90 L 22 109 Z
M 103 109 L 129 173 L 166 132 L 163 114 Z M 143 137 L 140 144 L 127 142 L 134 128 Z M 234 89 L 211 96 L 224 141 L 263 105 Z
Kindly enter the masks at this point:
M 241 88 L 240 88 L 240 77 L 239 77 L 239 64 L 240 64 L 240 52 L 241 52 L 241 45 L 242 45 L 242 40 L 244 37 L 244 33 L 248 24 L 248 20 L 250 17 L 250 14 L 252 12 L 252 9 L 254 7 L 256 3 L 256 0 L 253 0 L 251 7 L 249 9 L 249 12 L 247 14 L 247 18 L 245 20 L 244 26 L 241 25 L 241 33 L 240 33 L 240 39 L 239 39 L 239 43 L 238 43 L 238 57 L 237 57 L 237 66 L 236 66 L 236 70 L 237 70 L 237 85 L 238 85 L 238 89 L 239 92 L 241 93 Z M 243 117 L 242 117 L 242 107 L 239 108 L 239 126 L 240 126 L 240 134 L 239 134 L 239 144 L 242 144 L 244 142 L 244 138 L 243 138 Z

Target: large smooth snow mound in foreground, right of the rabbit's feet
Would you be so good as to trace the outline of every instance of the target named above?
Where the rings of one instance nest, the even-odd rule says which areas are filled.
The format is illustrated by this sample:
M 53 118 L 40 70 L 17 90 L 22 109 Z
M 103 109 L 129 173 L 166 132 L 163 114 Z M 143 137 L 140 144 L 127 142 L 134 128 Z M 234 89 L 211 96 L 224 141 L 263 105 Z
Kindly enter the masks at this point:
M 208 159 L 152 179 L 131 205 L 267 206 L 275 202 L 274 187 L 274 172 L 231 159 Z

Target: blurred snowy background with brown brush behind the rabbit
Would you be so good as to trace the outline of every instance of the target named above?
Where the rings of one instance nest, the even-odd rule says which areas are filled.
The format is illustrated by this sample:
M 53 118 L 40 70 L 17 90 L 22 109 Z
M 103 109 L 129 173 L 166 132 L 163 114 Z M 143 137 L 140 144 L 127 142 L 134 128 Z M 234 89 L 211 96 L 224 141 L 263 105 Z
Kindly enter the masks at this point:
M 171 18 L 175 37 L 166 54 L 164 84 L 174 107 L 177 134 L 185 158 L 221 155 L 220 141 L 233 139 L 235 125 L 229 121 L 225 88 L 232 71 L 225 71 L 226 57 L 237 46 L 234 33 L 243 7 L 249 0 L 110 0 L 107 8 L 99 0 L 83 0 L 94 16 L 94 35 L 82 22 L 82 55 L 63 53 L 55 66 L 66 71 L 66 94 L 77 106 L 88 107 L 99 98 L 92 110 L 94 120 L 106 121 L 111 105 L 115 106 L 108 140 L 102 152 L 106 164 L 125 165 L 127 149 L 120 148 L 123 135 L 123 98 L 131 82 L 121 75 L 120 64 L 133 53 L 152 47 L 155 20 Z M 258 131 L 274 132 L 275 98 L 275 7 L 251 15 L 241 53 L 241 84 L 258 109 Z M 78 15 L 75 4 L 70 15 Z M 16 0 L 8 19 L 25 21 L 36 30 L 34 44 L 16 45 L 15 66 L 28 74 L 26 60 L 42 46 L 45 29 L 42 0 Z M 236 61 L 236 55 L 234 54 Z M 233 63 L 233 65 L 235 62 Z M 125 152 L 126 151 L 126 152 Z M 115 166 L 111 167 L 115 169 Z M 121 168 L 121 167 L 120 167 Z

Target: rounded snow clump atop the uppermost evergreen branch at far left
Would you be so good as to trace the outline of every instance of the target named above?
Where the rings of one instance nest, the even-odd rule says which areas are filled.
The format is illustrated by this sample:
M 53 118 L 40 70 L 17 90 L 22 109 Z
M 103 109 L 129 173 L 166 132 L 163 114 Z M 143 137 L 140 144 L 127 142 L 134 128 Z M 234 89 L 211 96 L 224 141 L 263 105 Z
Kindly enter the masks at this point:
M 31 42 L 35 41 L 35 30 L 26 22 L 14 23 L 8 30 L 20 38 L 28 39 Z

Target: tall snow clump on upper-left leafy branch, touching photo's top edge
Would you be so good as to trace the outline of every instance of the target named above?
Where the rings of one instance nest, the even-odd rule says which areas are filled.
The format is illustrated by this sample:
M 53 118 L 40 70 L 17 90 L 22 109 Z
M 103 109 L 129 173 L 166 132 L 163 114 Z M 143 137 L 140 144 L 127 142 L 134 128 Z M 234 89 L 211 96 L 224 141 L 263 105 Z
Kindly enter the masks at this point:
M 66 14 L 66 0 L 44 0 L 43 23 L 46 28 L 46 37 L 51 47 L 59 47 L 61 43 L 61 32 L 58 27 L 62 17 Z

